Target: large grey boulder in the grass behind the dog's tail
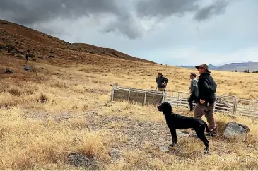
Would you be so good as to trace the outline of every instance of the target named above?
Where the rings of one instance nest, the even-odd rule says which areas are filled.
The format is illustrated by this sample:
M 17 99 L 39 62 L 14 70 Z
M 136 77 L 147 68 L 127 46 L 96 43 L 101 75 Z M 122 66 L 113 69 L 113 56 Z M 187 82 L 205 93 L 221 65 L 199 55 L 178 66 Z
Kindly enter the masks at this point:
M 238 138 L 238 141 L 245 141 L 247 133 L 250 131 L 248 126 L 236 122 L 230 122 L 223 132 L 225 138 Z

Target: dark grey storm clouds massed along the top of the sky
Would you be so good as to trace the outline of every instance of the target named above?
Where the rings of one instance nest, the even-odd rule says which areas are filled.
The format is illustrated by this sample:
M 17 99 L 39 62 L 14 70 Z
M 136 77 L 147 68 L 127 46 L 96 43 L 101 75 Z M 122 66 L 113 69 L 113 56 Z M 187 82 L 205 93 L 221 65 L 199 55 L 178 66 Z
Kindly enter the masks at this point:
M 210 6 L 200 7 L 201 0 L 0 0 L 0 18 L 23 25 L 44 23 L 56 18 L 78 19 L 83 16 L 115 17 L 103 26 L 104 33 L 118 31 L 130 39 L 145 32 L 139 20 L 143 17 L 159 19 L 173 15 L 194 13 L 195 20 L 206 20 L 225 11 L 228 3 L 214 0 Z M 51 28 L 49 28 L 51 30 Z

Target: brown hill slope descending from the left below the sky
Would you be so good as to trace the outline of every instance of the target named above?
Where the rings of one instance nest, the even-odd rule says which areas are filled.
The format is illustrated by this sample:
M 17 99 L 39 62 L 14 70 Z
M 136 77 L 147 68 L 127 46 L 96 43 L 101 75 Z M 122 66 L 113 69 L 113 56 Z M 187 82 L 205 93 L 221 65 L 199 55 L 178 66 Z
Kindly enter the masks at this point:
M 71 44 L 23 25 L 0 20 L 0 50 L 8 51 L 11 55 L 23 57 L 28 49 L 30 49 L 36 57 L 48 59 L 50 62 L 67 59 L 88 62 L 87 57 L 94 54 L 100 55 L 101 57 L 112 57 L 155 64 L 152 61 L 131 57 L 114 49 L 83 43 Z M 83 57 L 79 57 L 80 54 L 78 54 L 78 52 L 83 52 Z M 53 57 L 50 58 L 50 56 L 54 56 L 54 59 Z

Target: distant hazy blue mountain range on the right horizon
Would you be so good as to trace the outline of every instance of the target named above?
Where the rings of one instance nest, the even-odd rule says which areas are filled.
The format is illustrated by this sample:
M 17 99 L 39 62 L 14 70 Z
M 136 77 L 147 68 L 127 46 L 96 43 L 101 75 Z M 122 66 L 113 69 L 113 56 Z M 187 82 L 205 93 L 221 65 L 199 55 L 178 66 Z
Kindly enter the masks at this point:
M 194 69 L 195 66 L 176 66 L 180 68 L 188 68 L 188 69 Z M 230 64 L 225 64 L 222 66 L 214 66 L 212 64 L 209 64 L 209 69 L 211 70 L 218 70 L 218 71 L 245 71 L 248 70 L 250 72 L 252 71 L 257 71 L 258 70 L 258 62 L 242 62 L 242 63 L 230 63 Z

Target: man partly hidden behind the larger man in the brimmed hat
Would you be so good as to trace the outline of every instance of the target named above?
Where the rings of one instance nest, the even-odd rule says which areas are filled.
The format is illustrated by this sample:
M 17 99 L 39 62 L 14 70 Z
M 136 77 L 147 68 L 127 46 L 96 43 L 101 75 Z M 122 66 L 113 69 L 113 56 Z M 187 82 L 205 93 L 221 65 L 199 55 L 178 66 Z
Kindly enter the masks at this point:
M 192 110 L 193 110 L 192 102 L 193 101 L 197 102 L 197 97 L 198 97 L 198 80 L 196 77 L 197 77 L 197 75 L 195 73 L 190 74 L 191 85 L 189 87 L 189 90 L 191 90 L 191 95 L 188 100 L 188 103 L 190 106 L 190 112 L 192 112 Z

